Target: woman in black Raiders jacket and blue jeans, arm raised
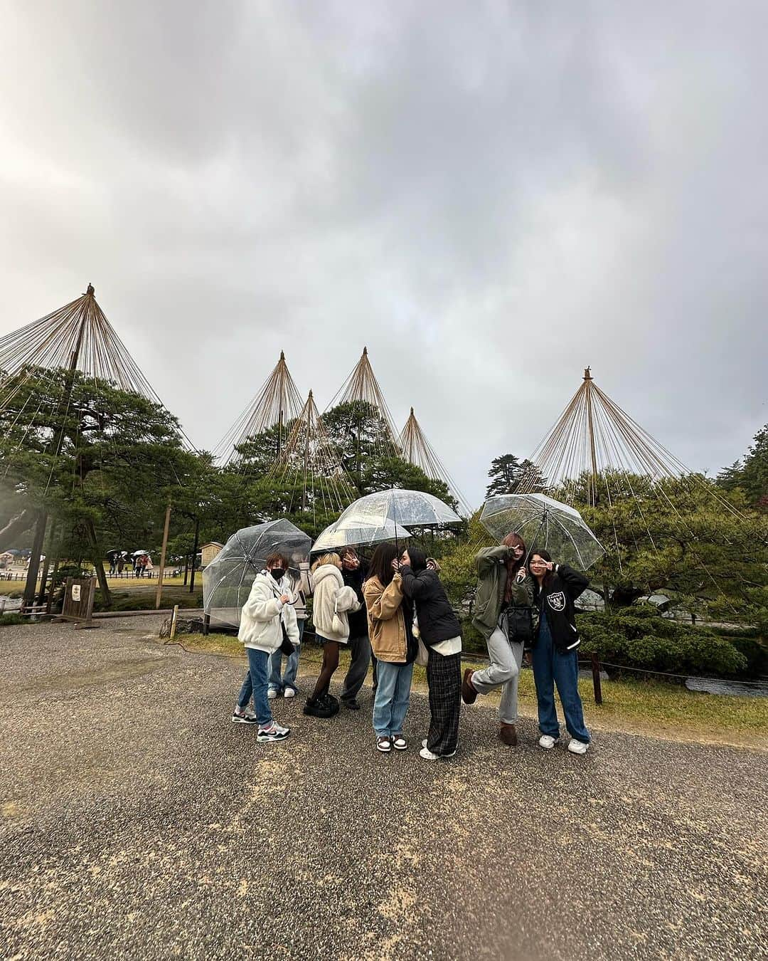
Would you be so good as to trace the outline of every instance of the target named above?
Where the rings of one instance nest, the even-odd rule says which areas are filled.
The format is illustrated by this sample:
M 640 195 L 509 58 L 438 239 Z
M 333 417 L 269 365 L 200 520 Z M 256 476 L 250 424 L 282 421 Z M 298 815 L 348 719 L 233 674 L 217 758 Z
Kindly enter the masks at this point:
M 560 737 L 555 708 L 557 684 L 565 727 L 571 737 L 568 751 L 586 754 L 591 738 L 584 723 L 584 707 L 579 694 L 579 655 L 576 652 L 581 639 L 576 628 L 574 602 L 587 590 L 589 580 L 572 567 L 553 563 L 546 551 L 531 554 L 528 566 L 535 580 L 535 603 L 540 612 L 532 654 L 539 702 L 539 744 L 549 751 Z

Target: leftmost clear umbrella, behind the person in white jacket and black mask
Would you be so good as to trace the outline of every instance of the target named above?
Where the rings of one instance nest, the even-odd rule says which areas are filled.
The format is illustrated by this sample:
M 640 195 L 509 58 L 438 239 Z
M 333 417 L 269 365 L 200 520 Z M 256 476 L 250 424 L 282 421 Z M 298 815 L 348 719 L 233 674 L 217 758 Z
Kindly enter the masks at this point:
M 288 557 L 289 570 L 299 579 L 299 565 L 312 546 L 310 538 L 290 521 L 267 521 L 232 534 L 203 571 L 203 606 L 212 621 L 232 628 L 240 625 L 240 611 L 251 593 L 253 579 L 270 554 Z

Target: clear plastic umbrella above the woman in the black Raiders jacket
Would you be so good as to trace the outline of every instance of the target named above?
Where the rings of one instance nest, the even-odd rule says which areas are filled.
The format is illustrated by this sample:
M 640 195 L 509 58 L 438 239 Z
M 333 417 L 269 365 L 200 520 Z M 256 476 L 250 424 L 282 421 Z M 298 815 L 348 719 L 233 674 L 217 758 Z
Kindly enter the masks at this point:
M 517 533 L 529 553 L 548 551 L 561 563 L 586 571 L 605 548 L 574 507 L 544 494 L 499 494 L 483 505 L 480 523 L 496 540 Z

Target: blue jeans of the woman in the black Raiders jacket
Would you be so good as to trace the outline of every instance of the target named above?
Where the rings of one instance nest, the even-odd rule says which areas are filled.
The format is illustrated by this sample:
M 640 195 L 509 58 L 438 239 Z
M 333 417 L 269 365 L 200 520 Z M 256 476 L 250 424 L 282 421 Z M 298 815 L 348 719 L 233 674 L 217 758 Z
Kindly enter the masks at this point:
M 584 724 L 584 710 L 579 696 L 579 655 L 575 651 L 561 653 L 555 647 L 546 614 L 542 611 L 539 640 L 532 652 L 536 697 L 539 702 L 539 729 L 542 734 L 560 737 L 560 722 L 555 709 L 555 684 L 563 703 L 565 727 L 577 741 L 589 743 Z

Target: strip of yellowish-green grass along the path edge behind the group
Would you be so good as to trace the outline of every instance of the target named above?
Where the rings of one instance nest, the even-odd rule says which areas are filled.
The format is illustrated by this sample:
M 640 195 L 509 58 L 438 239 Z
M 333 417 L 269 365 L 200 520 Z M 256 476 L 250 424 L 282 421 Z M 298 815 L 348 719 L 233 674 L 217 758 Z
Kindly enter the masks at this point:
M 180 644 L 188 651 L 238 657 L 245 662 L 243 646 L 227 634 L 182 634 Z M 314 644 L 301 648 L 300 677 L 317 676 L 323 659 Z M 346 656 L 342 653 L 336 678 L 343 677 Z M 472 664 L 467 660 L 466 666 Z M 485 664 L 477 662 L 478 668 Z M 426 690 L 424 668 L 414 669 L 414 686 Z M 592 695 L 590 678 L 579 681 L 588 727 L 649 734 L 675 741 L 728 744 L 768 751 L 768 698 L 738 698 L 688 691 L 682 686 L 657 680 L 604 680 L 603 703 L 598 706 Z M 498 696 L 490 695 L 497 703 Z M 533 672 L 520 675 L 519 707 L 524 717 L 536 717 L 536 690 Z M 560 708 L 559 708 L 560 711 Z M 562 718 L 563 714 L 560 711 Z

